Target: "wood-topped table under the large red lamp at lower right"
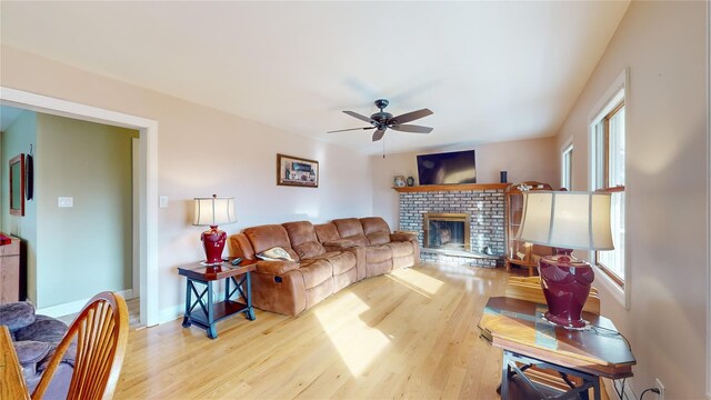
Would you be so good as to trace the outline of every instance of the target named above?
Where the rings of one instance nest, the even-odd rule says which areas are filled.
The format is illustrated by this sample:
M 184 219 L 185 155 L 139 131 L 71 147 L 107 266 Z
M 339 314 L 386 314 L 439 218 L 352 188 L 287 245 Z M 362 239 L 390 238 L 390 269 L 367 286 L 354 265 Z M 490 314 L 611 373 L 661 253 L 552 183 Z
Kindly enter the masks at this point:
M 547 308 L 505 297 L 487 302 L 479 329 L 484 339 L 503 350 L 501 399 L 587 399 L 588 389 L 592 388 L 599 400 L 600 377 L 614 380 L 632 376 L 637 360 L 612 321 L 583 312 L 590 327 L 568 330 L 542 318 Z M 530 366 L 560 372 L 570 390 L 561 396 L 560 391 L 532 382 L 523 373 Z M 580 378 L 582 384 L 574 386 L 568 376 Z

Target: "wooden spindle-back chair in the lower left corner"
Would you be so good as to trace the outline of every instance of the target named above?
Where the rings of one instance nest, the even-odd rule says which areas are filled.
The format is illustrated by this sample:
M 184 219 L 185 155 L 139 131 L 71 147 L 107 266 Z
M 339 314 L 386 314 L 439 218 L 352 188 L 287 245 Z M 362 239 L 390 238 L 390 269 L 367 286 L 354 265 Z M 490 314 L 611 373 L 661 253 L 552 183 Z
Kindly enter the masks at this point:
M 110 399 L 119 380 L 129 331 L 126 300 L 114 292 L 101 292 L 84 306 L 44 370 L 32 399 L 44 396 L 57 366 L 77 340 L 74 370 L 68 399 Z

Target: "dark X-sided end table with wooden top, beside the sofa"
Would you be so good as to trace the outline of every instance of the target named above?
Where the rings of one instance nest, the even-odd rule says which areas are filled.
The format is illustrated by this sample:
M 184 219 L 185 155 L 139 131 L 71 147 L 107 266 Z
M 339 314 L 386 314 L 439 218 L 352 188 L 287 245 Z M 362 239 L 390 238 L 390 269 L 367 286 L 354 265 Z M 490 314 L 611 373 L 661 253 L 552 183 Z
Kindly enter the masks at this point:
M 178 273 L 187 278 L 186 314 L 182 326 L 189 328 L 194 323 L 207 330 L 208 338 L 217 339 L 216 323 L 227 317 L 243 312 L 247 319 L 253 321 L 256 317 L 250 272 L 254 270 L 257 261 L 244 260 L 239 266 L 223 262 L 220 266 L 190 263 L 178 267 Z M 212 284 L 222 279 L 224 279 L 224 300 L 216 303 Z M 192 301 L 193 293 L 194 301 Z M 237 301 L 239 299 L 242 301 Z

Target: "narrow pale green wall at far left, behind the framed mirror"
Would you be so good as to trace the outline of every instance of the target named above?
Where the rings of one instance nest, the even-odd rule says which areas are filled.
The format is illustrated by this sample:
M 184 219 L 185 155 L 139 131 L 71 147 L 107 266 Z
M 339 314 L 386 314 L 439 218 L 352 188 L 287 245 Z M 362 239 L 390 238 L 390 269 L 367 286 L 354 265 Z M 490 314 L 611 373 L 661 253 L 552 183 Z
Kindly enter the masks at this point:
M 22 249 L 27 263 L 28 297 L 37 301 L 37 201 L 24 202 L 24 217 L 10 214 L 10 196 L 6 188 L 10 187 L 9 164 L 11 158 L 19 153 L 29 153 L 30 144 L 37 144 L 37 116 L 23 111 L 14 122 L 2 132 L 2 231 L 22 239 Z M 34 153 L 34 151 L 33 151 Z

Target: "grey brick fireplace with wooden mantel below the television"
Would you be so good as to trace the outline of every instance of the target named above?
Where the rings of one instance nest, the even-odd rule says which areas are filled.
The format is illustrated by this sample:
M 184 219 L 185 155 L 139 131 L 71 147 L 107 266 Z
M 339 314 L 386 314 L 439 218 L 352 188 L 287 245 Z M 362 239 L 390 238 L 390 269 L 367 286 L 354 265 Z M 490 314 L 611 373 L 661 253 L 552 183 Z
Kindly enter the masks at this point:
M 418 233 L 422 261 L 494 268 L 505 251 L 505 187 L 397 188 L 400 230 Z

